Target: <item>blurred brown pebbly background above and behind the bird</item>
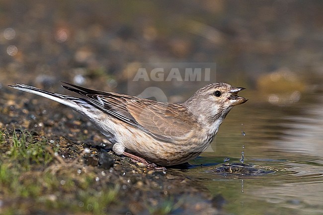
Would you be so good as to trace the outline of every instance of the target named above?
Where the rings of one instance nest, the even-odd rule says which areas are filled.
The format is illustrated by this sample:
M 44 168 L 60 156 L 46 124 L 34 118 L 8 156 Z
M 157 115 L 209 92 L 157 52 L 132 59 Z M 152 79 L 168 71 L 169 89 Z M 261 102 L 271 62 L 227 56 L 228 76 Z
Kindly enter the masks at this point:
M 210 82 L 297 101 L 322 90 L 322 11 L 320 0 L 1 0 L 0 84 L 130 93 L 142 62 L 202 62 L 216 63 Z

